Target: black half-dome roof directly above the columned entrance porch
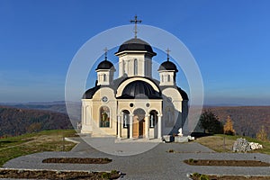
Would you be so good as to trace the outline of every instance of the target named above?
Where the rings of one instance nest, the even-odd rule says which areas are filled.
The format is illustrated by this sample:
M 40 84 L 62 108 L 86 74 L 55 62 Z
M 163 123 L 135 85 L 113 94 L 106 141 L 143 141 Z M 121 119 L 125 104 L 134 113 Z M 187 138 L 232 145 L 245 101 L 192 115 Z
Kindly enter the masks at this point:
M 134 98 L 148 98 L 148 99 L 159 99 L 160 94 L 155 91 L 152 85 L 147 82 L 137 80 L 127 85 L 121 94 L 120 98 L 134 99 Z

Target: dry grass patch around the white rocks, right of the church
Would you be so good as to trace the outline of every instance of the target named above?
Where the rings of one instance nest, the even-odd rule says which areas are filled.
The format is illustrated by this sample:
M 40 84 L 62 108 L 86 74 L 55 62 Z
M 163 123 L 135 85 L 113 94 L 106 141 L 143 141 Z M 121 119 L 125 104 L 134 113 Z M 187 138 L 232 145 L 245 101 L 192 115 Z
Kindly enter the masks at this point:
M 223 146 L 223 140 L 225 138 L 225 146 Z M 216 134 L 214 136 L 202 137 L 196 139 L 195 141 L 213 149 L 216 152 L 232 152 L 232 147 L 236 139 L 241 138 L 241 136 L 229 136 L 224 134 Z M 270 155 L 270 141 L 261 141 L 257 139 L 252 139 L 249 137 L 242 137 L 247 139 L 249 142 L 257 142 L 263 145 L 262 149 L 251 150 L 250 152 L 259 152 Z

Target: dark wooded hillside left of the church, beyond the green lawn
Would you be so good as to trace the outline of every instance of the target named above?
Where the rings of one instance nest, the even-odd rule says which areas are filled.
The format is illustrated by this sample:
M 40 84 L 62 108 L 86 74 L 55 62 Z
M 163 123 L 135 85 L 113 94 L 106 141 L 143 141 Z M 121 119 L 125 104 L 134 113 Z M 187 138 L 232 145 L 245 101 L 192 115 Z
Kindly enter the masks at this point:
M 67 129 L 72 129 L 72 124 L 65 113 L 0 106 L 0 137 Z

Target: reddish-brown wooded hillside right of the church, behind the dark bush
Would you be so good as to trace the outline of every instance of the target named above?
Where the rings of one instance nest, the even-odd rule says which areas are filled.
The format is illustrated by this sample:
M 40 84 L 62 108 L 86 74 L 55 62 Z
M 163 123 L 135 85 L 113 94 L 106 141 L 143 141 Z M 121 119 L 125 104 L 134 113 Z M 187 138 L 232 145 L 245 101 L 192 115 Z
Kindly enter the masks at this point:
M 257 131 L 264 125 L 268 137 L 270 136 L 270 106 L 205 107 L 204 109 L 210 109 L 222 122 L 225 122 L 229 115 L 238 135 L 255 138 Z

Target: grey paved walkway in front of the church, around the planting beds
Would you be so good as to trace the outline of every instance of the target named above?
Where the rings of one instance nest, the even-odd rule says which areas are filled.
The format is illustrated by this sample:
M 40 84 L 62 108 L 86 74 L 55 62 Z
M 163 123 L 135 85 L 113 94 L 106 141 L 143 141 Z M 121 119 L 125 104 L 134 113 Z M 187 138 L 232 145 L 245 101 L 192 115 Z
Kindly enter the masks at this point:
M 42 152 L 28 156 L 14 158 L 4 164 L 8 168 L 23 169 L 57 169 L 57 170 L 86 170 L 86 171 L 111 171 L 120 170 L 121 179 L 189 179 L 186 175 L 198 172 L 202 174 L 217 175 L 270 175 L 270 167 L 237 167 L 237 166 L 188 166 L 183 160 L 188 158 L 207 159 L 242 159 L 261 160 L 270 163 L 270 156 L 258 153 L 215 153 L 196 142 L 190 143 L 159 143 L 155 148 L 145 153 L 134 156 L 114 156 L 105 154 L 91 148 L 82 139 L 70 152 Z M 108 139 L 113 141 L 113 139 Z M 146 142 L 127 142 L 136 145 Z M 125 152 L 126 143 L 116 143 L 121 152 Z M 123 145 L 123 146 L 122 146 Z M 141 144 L 140 144 L 141 146 Z M 179 153 L 167 153 L 174 149 Z M 80 165 L 80 164 L 42 164 L 41 161 L 48 157 L 109 157 L 112 163 L 105 165 Z

